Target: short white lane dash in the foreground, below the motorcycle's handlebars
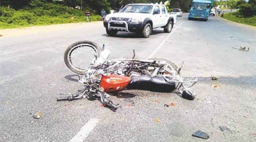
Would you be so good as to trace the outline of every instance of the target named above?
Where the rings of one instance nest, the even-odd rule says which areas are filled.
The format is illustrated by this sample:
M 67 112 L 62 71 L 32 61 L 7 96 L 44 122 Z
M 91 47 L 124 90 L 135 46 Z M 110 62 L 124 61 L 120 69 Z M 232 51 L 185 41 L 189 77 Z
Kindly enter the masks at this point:
M 90 119 L 69 142 L 83 142 L 99 121 L 96 118 Z

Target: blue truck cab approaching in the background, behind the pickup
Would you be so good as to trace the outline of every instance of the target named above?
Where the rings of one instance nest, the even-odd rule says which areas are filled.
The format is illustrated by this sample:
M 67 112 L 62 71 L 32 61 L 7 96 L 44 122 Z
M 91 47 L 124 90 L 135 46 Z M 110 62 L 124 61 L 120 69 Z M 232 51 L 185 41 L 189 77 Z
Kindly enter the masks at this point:
M 213 2 L 210 0 L 193 0 L 190 13 L 188 14 L 188 20 L 197 18 L 207 21 L 212 5 Z

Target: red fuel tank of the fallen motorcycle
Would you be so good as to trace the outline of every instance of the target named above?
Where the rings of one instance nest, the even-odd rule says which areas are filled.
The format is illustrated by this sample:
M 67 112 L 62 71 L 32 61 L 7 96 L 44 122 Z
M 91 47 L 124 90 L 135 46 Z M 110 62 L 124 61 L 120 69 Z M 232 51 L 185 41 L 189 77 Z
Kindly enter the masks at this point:
M 101 87 L 104 88 L 105 92 L 121 91 L 127 87 L 130 83 L 130 77 L 109 75 L 101 77 Z

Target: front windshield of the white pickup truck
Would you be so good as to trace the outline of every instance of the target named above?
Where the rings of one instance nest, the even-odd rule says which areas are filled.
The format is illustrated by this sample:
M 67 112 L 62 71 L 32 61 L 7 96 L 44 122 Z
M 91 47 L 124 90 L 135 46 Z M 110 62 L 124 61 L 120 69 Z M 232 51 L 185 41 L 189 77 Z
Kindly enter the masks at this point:
M 152 5 L 127 5 L 120 12 L 150 13 Z

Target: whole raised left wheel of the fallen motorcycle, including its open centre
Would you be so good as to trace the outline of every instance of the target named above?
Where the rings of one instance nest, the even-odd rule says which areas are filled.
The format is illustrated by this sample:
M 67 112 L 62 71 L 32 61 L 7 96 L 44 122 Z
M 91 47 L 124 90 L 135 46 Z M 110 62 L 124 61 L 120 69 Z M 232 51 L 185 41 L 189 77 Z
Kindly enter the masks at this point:
M 84 75 L 87 67 L 100 56 L 101 47 L 96 43 L 84 40 L 75 42 L 65 50 L 64 62 L 73 72 Z

